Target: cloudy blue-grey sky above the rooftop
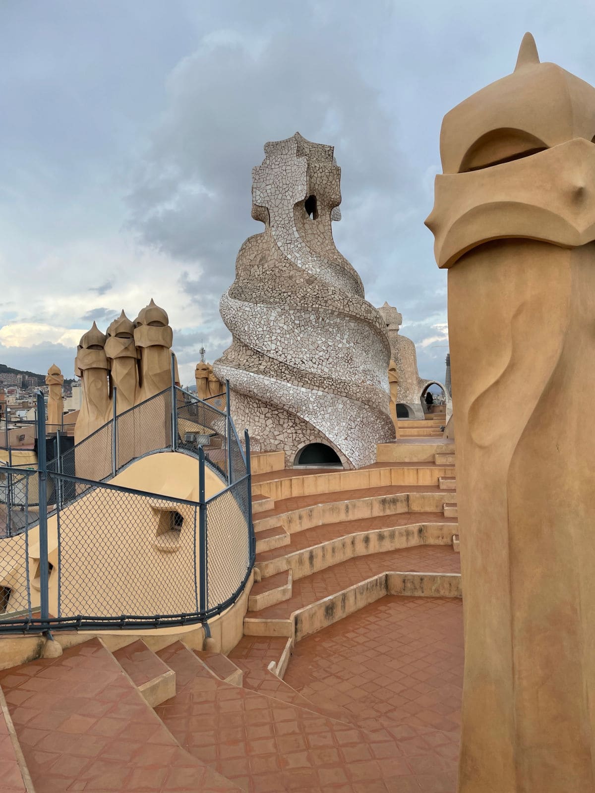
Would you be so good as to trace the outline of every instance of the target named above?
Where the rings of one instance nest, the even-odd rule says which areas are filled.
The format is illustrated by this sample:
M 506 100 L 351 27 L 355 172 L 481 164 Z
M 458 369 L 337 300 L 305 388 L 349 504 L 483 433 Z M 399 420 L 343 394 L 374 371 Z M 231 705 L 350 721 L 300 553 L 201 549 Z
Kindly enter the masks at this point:
M 442 117 L 512 71 L 526 30 L 595 83 L 593 23 L 593 0 L 0 0 L 0 362 L 71 376 L 92 320 L 154 297 L 190 383 L 262 228 L 251 167 L 299 130 L 342 167 L 337 247 L 442 379 Z

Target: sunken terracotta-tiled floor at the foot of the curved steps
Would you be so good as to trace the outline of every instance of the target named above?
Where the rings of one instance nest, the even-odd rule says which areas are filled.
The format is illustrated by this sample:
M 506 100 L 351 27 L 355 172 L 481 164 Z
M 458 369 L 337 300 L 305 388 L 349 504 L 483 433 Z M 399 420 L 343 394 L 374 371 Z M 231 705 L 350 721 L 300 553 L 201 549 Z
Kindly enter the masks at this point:
M 459 598 L 387 596 L 298 642 L 285 681 L 373 725 L 429 726 L 455 737 L 463 683 Z M 370 721 L 371 720 L 371 721 Z

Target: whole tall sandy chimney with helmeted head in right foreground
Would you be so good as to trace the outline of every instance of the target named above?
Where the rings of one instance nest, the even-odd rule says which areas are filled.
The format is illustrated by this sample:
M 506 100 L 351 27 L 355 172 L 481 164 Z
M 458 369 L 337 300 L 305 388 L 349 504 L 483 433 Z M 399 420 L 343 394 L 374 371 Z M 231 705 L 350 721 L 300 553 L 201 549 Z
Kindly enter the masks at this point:
M 539 63 L 447 113 L 465 592 L 459 793 L 595 790 L 595 89 Z

